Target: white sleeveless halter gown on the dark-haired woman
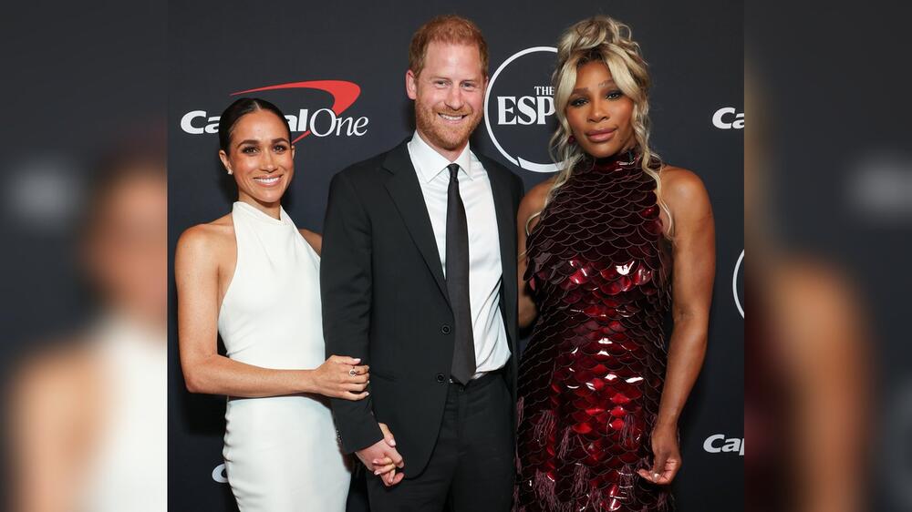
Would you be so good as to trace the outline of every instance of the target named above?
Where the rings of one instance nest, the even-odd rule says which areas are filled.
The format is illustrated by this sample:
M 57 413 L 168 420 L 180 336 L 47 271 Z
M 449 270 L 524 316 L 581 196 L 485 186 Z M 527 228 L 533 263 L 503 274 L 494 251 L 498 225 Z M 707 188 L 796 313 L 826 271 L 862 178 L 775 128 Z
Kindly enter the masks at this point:
M 219 312 L 228 357 L 275 369 L 326 361 L 320 260 L 281 220 L 241 201 L 232 210 L 237 265 Z M 350 473 L 326 399 L 229 397 L 225 473 L 241 512 L 345 510 Z

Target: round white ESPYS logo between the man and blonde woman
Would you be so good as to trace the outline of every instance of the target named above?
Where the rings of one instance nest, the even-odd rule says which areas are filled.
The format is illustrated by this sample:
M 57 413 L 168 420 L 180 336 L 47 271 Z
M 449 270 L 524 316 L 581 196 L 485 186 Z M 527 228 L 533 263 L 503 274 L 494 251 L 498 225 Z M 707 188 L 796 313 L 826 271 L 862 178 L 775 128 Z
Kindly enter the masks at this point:
M 558 169 L 542 163 L 551 162 L 555 53 L 552 46 L 534 46 L 513 54 L 494 71 L 484 97 L 484 125 L 494 146 L 513 165 L 533 172 Z

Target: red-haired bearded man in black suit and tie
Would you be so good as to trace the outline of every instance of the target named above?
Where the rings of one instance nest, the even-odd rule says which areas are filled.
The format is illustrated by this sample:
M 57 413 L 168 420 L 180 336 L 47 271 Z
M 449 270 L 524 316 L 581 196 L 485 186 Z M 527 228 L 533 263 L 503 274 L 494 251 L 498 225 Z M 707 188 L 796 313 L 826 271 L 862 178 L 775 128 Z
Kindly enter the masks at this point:
M 415 134 L 330 185 L 326 353 L 362 358 L 371 378 L 368 398 L 332 407 L 345 451 L 379 474 L 374 512 L 511 505 L 523 183 L 469 148 L 487 64 L 471 21 L 422 26 L 406 74 Z

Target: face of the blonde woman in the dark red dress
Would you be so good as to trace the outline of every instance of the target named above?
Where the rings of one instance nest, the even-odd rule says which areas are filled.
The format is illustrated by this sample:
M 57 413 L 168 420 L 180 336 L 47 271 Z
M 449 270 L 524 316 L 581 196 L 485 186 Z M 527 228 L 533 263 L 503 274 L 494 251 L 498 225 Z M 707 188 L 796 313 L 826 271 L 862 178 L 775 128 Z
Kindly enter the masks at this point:
M 576 69 L 576 84 L 565 109 L 567 123 L 586 153 L 602 159 L 636 144 L 634 101 L 621 92 L 602 62 Z

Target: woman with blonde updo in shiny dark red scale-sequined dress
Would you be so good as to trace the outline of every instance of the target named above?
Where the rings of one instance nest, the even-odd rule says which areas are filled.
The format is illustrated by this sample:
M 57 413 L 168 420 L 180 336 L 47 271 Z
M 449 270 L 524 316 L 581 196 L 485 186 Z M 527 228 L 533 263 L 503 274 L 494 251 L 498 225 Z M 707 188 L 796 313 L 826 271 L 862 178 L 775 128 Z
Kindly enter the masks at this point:
M 518 216 L 520 324 L 534 322 L 519 374 L 519 511 L 672 508 L 715 247 L 702 182 L 649 148 L 648 86 L 627 26 L 597 16 L 561 37 L 563 169 Z

